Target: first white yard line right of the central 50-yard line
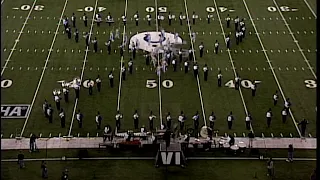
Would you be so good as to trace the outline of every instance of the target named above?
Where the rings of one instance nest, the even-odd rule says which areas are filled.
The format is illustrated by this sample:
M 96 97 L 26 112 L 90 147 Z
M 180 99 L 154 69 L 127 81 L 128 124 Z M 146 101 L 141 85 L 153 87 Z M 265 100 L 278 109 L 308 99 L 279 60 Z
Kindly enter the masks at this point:
M 190 26 L 189 14 L 188 14 L 187 0 L 184 0 L 184 6 L 185 6 L 186 17 L 187 17 L 187 22 L 188 22 L 189 37 L 190 37 L 191 48 L 192 48 L 192 53 L 193 53 L 193 61 L 196 62 L 196 55 L 195 55 L 195 52 L 194 52 L 194 45 L 193 45 L 193 41 L 192 41 L 192 37 L 191 37 L 191 26 Z M 198 71 L 200 72 L 201 70 L 199 69 Z M 201 104 L 201 109 L 202 109 L 203 121 L 204 121 L 204 125 L 207 126 L 206 113 L 204 111 L 203 98 L 202 98 L 200 81 L 199 81 L 199 74 L 197 76 L 197 84 L 198 84 L 198 91 L 199 91 L 199 97 L 200 97 L 200 104 Z

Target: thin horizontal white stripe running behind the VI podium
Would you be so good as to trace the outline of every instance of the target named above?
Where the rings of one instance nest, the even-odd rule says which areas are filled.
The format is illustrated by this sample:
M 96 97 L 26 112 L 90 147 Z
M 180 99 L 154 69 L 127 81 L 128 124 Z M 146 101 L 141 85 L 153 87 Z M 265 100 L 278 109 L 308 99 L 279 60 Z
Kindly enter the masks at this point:
M 263 158 L 262 160 L 267 160 L 268 158 Z M 274 161 L 285 161 L 288 158 L 272 158 Z M 36 159 L 24 159 L 24 161 L 65 161 L 59 158 L 36 158 Z M 79 158 L 68 158 L 68 161 L 78 161 Z M 155 157 L 92 157 L 92 158 L 82 158 L 82 160 L 155 160 Z M 259 160 L 258 157 L 187 157 L 186 160 Z M 293 158 L 293 161 L 316 161 L 316 158 Z M 17 162 L 18 159 L 2 159 L 1 162 Z

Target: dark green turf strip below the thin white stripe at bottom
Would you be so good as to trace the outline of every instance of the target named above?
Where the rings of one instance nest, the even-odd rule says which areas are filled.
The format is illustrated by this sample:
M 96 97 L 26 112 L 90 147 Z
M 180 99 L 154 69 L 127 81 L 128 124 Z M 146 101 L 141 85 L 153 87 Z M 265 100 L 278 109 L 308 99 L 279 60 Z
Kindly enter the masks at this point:
M 67 168 L 70 179 L 270 179 L 265 161 L 189 161 L 186 169 L 169 167 L 156 169 L 154 161 L 51 161 L 47 162 L 49 178 L 58 179 Z M 26 162 L 20 170 L 16 162 L 1 165 L 4 179 L 41 179 L 41 162 Z M 315 163 L 276 161 L 275 179 L 308 179 Z M 132 168 L 135 167 L 135 168 Z M 125 173 L 123 173 L 125 169 Z M 185 173 L 187 172 L 188 173 Z

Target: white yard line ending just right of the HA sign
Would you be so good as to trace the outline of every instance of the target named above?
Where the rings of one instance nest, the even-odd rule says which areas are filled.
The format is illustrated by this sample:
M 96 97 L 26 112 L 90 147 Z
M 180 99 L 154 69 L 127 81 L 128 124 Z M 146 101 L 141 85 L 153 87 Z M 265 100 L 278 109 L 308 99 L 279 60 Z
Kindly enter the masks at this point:
M 61 24 L 61 21 L 62 21 L 62 17 L 64 15 L 64 11 L 66 10 L 67 4 L 68 4 L 68 0 L 66 0 L 66 2 L 64 3 L 64 6 L 63 6 L 63 9 L 62 9 L 62 12 L 61 12 L 61 16 L 60 16 L 60 19 L 59 19 L 59 23 L 58 23 L 56 32 L 54 33 L 53 40 L 52 40 L 52 43 L 51 43 L 51 46 L 50 46 L 50 49 L 49 49 L 49 53 L 48 53 L 46 62 L 44 64 L 44 67 L 43 67 L 43 70 L 42 70 L 42 73 L 41 73 L 41 76 L 40 76 L 40 79 L 39 79 L 39 83 L 38 83 L 37 89 L 36 89 L 36 91 L 34 93 L 34 96 L 33 96 L 33 99 L 32 99 L 31 105 L 30 105 L 30 111 L 28 112 L 27 118 L 26 118 L 26 120 L 24 122 L 24 125 L 22 127 L 22 130 L 21 130 L 21 133 L 20 133 L 20 137 L 22 137 L 22 135 L 23 135 L 23 132 L 24 132 L 24 130 L 26 128 L 26 125 L 27 125 L 29 117 L 30 117 L 31 110 L 32 110 L 33 105 L 34 105 L 34 103 L 36 101 L 36 98 L 37 98 L 37 95 L 38 95 L 38 92 L 39 92 L 39 89 L 40 89 L 40 85 L 41 85 L 41 82 L 43 80 L 44 73 L 46 72 L 47 65 L 48 65 L 48 62 L 49 62 L 49 58 L 50 58 L 51 52 L 53 51 L 52 48 L 53 48 L 53 45 L 54 45 L 54 43 L 56 41 L 58 30 L 59 30 L 59 27 L 60 27 L 60 24 Z

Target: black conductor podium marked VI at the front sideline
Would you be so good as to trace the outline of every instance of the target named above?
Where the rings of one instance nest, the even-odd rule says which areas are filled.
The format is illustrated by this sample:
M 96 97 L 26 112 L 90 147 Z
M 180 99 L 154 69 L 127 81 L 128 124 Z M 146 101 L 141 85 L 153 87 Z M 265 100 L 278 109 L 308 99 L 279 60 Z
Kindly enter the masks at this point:
M 168 147 L 165 142 L 160 143 L 160 148 L 156 156 L 156 167 L 159 166 L 182 166 L 186 164 L 186 159 L 181 150 L 180 143 L 172 143 Z

